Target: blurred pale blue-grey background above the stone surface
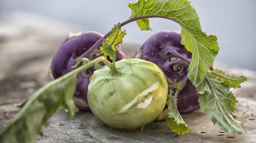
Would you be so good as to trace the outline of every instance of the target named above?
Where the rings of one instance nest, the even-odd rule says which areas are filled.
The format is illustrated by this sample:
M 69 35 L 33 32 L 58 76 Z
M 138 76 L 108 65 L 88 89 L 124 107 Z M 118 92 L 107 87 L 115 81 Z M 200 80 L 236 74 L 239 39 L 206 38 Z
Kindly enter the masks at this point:
M 73 32 L 107 33 L 117 22 L 130 17 L 128 0 L 0 0 L 0 14 L 33 14 L 72 25 Z M 136 2 L 131 0 L 131 2 Z M 208 35 L 218 37 L 220 51 L 215 60 L 233 66 L 256 70 L 256 1 L 255 0 L 191 0 L 201 27 Z M 0 17 L 1 18 L 1 17 Z M 31 19 L 28 19 L 28 23 Z M 1 19 L 0 19 L 1 23 Z M 152 31 L 141 31 L 136 22 L 123 26 L 124 43 L 139 46 L 161 30 L 180 31 L 171 20 L 151 18 Z M 51 26 L 51 25 L 48 25 Z M 1 31 L 0 31 L 1 32 Z M 137 48 L 136 48 L 137 49 Z

